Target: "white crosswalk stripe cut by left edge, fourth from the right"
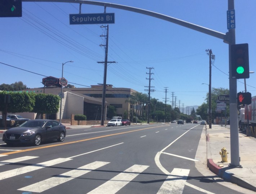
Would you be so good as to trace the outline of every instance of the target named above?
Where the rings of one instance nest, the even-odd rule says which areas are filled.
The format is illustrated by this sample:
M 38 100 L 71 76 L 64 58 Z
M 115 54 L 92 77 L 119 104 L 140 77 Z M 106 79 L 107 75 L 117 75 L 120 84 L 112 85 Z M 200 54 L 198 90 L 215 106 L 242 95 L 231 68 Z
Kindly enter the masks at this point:
M 31 171 L 35 171 L 44 167 L 49 167 L 49 166 L 53 166 L 55 164 L 59 164 L 62 162 L 66 162 L 66 161 L 70 161 L 72 159 L 69 158 L 57 158 L 57 159 L 53 159 L 47 162 L 42 162 L 39 164 L 33 164 L 31 166 L 25 166 L 25 167 L 21 167 L 21 168 L 17 168 L 17 169 L 13 169 L 13 170 L 9 170 L 9 171 L 4 171 L 4 172 L 0 172 L 0 180 L 3 179 L 7 179 L 13 176 L 17 176 L 17 175 L 21 175 L 27 172 L 31 172 Z

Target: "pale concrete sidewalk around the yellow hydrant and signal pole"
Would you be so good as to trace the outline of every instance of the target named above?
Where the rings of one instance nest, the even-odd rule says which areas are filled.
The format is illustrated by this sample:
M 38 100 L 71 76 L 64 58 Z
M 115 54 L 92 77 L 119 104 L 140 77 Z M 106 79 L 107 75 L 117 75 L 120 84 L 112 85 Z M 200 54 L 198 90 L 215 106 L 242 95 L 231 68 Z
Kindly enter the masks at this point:
M 230 166 L 230 126 L 207 125 L 207 166 L 222 179 L 256 191 L 256 138 L 239 133 L 241 167 Z M 219 152 L 228 150 L 228 162 L 222 163 Z

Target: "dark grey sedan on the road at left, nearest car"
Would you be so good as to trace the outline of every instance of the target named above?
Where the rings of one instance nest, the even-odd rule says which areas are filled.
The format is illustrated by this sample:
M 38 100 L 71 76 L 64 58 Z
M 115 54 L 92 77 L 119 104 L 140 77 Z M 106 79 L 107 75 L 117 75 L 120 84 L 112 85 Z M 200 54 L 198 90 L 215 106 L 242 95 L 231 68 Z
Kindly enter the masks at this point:
M 40 145 L 43 141 L 55 139 L 63 141 L 65 136 L 66 126 L 58 121 L 33 119 L 6 130 L 3 134 L 3 141 L 6 144 L 33 143 Z

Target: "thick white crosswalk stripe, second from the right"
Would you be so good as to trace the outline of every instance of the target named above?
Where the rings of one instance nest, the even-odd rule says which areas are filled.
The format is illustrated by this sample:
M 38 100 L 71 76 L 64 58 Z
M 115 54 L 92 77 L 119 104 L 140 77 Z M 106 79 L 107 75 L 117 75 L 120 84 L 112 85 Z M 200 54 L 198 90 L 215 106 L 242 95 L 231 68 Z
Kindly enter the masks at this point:
M 127 185 L 130 181 L 132 181 L 141 172 L 146 170 L 148 167 L 149 166 L 135 164 L 87 194 L 114 194 L 122 189 L 125 185 Z

